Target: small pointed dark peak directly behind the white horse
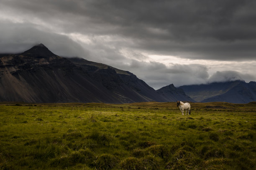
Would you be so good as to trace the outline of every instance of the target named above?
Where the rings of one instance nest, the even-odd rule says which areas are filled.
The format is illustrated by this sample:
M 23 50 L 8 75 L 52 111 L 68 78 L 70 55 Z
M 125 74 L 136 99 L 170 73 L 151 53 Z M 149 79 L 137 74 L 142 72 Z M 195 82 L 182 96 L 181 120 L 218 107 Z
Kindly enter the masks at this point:
M 159 90 L 156 90 L 156 92 L 167 101 L 180 100 L 195 102 L 195 100 L 185 94 L 184 90 L 174 87 L 173 84 L 162 87 Z

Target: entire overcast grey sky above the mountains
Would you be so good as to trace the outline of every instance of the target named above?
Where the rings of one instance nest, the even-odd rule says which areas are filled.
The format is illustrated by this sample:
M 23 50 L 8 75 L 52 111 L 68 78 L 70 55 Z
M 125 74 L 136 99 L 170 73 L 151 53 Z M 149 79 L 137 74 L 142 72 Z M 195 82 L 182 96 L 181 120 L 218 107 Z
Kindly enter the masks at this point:
M 256 81 L 255 9 L 255 0 L 0 0 L 0 53 L 43 43 L 155 89 Z

